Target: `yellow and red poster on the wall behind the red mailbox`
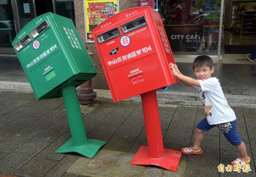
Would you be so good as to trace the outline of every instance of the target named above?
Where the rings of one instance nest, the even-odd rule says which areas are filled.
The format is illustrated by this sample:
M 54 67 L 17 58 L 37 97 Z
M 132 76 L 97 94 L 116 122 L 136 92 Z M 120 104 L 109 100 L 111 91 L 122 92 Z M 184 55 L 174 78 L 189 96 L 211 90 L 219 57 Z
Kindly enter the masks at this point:
M 94 43 L 93 31 L 96 26 L 107 18 L 119 12 L 119 0 L 84 0 L 85 39 L 88 43 Z M 109 25 L 109 24 L 106 24 Z

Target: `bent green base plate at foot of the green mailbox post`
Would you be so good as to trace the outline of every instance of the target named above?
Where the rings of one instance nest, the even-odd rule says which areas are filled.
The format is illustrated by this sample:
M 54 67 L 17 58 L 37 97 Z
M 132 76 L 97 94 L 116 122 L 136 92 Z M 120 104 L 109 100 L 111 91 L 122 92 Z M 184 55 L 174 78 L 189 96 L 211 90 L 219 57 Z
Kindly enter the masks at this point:
M 85 157 L 93 158 L 98 150 L 104 146 L 107 142 L 101 140 L 87 139 L 87 143 L 82 146 L 74 146 L 73 139 L 71 138 L 66 143 L 64 143 L 56 153 L 68 153 L 77 152 Z

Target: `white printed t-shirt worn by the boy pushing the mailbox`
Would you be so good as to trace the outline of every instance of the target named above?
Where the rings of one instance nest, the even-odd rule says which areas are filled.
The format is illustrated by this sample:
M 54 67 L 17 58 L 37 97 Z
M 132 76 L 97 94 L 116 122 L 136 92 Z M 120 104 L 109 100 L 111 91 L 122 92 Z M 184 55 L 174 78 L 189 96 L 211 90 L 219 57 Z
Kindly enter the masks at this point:
M 218 79 L 212 77 L 206 80 L 198 79 L 198 81 L 201 87 L 193 86 L 199 90 L 207 122 L 215 125 L 236 120 L 235 112 L 227 104 Z

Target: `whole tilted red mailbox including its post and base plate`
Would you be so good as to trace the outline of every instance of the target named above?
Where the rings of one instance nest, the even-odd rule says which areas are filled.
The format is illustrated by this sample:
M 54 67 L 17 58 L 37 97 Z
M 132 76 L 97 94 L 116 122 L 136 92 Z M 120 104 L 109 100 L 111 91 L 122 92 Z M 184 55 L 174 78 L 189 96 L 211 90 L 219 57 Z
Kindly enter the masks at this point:
M 113 101 L 141 95 L 148 147 L 132 160 L 176 171 L 181 152 L 164 149 L 156 90 L 178 80 L 160 15 L 150 6 L 130 8 L 108 18 L 92 31 Z

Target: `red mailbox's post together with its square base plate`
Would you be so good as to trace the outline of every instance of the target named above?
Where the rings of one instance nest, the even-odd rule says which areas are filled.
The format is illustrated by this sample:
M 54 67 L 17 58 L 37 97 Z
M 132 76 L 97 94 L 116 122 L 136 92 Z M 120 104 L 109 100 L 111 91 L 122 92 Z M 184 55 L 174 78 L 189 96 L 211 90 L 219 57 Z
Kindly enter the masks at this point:
M 176 171 L 181 152 L 163 148 L 163 138 L 156 90 L 141 94 L 148 147 L 141 146 L 134 156 L 133 165 L 155 165 Z

